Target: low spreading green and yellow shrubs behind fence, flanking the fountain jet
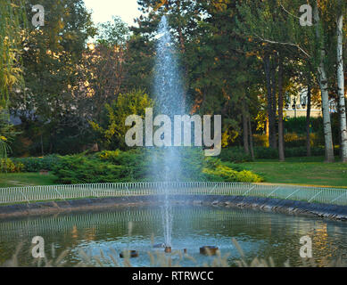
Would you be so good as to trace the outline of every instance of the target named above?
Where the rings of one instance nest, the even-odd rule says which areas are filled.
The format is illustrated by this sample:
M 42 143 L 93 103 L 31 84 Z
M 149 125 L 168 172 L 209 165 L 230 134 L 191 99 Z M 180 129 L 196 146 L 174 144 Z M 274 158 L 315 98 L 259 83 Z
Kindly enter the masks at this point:
M 54 166 L 58 183 L 116 183 L 164 181 L 153 173 L 152 159 L 163 158 L 162 150 L 102 151 L 94 155 L 61 157 Z M 260 176 L 224 164 L 219 159 L 203 157 L 198 149 L 183 151 L 179 181 L 260 182 Z

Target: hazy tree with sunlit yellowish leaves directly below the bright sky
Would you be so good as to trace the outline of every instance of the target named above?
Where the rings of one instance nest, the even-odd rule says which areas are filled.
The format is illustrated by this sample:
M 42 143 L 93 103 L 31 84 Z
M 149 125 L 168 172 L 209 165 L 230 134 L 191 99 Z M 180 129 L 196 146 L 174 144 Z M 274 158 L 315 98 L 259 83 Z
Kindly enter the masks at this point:
M 113 22 L 99 24 L 95 45 L 88 45 L 83 53 L 78 68 L 80 87 L 74 94 L 89 103 L 83 104 L 88 120 L 99 121 L 104 104 L 111 103 L 120 92 L 125 91 L 128 36 L 128 26 L 114 17 Z

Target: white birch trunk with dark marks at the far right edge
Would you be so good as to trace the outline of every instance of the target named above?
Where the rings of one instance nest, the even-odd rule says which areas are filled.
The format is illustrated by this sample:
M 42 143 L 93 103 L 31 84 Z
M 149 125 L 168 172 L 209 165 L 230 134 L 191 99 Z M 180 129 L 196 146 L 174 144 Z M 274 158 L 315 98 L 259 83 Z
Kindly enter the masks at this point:
M 344 163 L 347 163 L 347 121 L 343 74 L 343 14 L 337 18 L 337 84 L 340 108 L 341 159 Z

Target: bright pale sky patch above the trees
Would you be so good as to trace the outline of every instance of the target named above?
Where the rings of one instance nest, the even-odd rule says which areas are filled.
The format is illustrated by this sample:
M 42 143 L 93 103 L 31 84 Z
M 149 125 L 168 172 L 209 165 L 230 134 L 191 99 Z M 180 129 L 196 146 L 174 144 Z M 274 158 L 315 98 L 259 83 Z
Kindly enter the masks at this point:
M 112 16 L 120 16 L 128 25 L 134 25 L 134 19 L 140 16 L 136 0 L 85 0 L 88 10 L 93 11 L 93 20 L 105 22 L 112 20 Z

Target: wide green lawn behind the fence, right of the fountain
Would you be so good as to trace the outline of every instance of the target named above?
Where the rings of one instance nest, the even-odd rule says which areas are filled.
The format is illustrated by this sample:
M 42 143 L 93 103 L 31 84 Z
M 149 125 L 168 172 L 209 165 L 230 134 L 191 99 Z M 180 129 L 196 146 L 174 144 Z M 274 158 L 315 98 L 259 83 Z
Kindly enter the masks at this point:
M 323 157 L 289 158 L 285 162 L 258 160 L 243 163 L 242 166 L 263 176 L 267 183 L 347 188 L 347 165 L 343 163 L 324 163 Z

